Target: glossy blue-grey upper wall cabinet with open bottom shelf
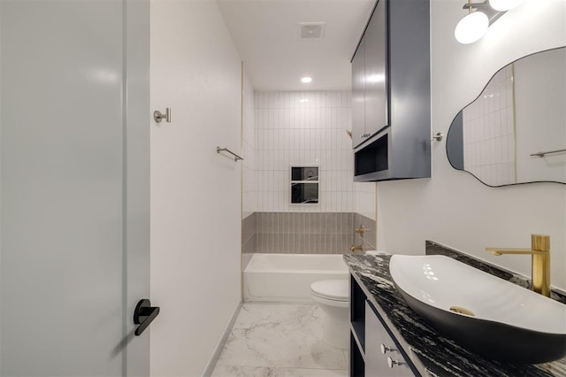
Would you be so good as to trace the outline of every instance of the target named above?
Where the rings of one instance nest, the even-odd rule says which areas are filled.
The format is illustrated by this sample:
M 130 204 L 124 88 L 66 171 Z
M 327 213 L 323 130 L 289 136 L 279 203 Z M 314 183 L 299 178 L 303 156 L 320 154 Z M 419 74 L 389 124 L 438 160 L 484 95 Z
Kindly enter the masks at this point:
M 379 0 L 352 58 L 355 181 L 431 176 L 429 0 Z

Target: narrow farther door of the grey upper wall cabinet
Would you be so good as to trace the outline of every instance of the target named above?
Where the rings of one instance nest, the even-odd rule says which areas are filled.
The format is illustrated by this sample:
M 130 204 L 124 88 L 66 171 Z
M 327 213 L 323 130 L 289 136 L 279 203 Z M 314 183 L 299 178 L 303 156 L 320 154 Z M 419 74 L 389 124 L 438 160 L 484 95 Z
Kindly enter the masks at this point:
M 365 139 L 365 42 L 362 39 L 352 60 L 352 147 Z

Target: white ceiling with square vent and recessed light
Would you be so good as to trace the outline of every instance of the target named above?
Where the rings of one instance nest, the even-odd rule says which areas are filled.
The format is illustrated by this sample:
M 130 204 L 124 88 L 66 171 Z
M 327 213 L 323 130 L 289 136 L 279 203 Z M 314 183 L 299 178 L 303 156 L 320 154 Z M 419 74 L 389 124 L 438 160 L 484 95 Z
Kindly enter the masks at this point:
M 217 0 L 256 90 L 346 90 L 374 0 Z M 299 23 L 325 22 L 321 39 Z M 303 76 L 312 82 L 303 84 Z

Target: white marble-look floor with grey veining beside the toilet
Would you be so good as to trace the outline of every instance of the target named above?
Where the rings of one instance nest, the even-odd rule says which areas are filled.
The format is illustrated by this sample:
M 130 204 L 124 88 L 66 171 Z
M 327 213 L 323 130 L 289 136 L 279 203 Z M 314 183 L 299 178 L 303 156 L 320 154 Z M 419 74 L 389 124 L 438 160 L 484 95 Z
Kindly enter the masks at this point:
M 243 304 L 215 373 L 346 375 L 347 354 L 320 340 L 323 321 L 316 305 Z

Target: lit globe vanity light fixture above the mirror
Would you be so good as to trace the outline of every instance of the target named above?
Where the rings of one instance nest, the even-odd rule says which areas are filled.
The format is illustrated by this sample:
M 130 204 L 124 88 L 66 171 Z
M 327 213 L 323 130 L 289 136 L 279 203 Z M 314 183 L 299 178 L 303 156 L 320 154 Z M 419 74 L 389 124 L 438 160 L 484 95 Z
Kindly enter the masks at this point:
M 499 19 L 505 12 L 494 9 L 493 4 L 520 4 L 523 0 L 485 0 L 481 3 L 472 3 L 468 0 L 468 4 L 463 5 L 463 9 L 467 9 L 469 13 L 458 22 L 454 35 L 456 41 L 469 44 L 478 41 L 486 34 L 487 27 Z M 502 5 L 501 5 L 502 6 Z M 507 8 L 510 9 L 510 8 Z

